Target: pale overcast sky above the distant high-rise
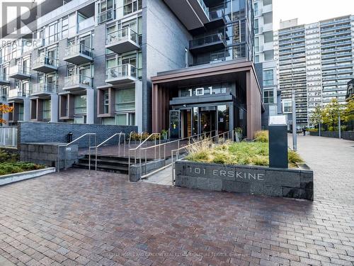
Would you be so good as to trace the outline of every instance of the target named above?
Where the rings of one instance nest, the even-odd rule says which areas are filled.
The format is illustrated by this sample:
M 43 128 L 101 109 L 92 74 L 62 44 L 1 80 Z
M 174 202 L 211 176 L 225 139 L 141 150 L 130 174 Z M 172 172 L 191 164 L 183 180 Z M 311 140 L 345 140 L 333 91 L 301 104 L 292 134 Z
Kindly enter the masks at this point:
M 273 0 L 273 28 L 280 19 L 299 18 L 299 25 L 338 16 L 354 15 L 354 0 Z

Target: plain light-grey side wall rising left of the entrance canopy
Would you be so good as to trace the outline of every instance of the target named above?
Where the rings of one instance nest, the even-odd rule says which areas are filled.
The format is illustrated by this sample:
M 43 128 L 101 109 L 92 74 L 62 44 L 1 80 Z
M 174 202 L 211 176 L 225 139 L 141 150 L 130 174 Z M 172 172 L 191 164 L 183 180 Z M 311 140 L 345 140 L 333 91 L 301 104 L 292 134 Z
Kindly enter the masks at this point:
M 145 1 L 142 50 L 146 54 L 146 73 L 143 73 L 143 129 L 152 128 L 152 82 L 157 72 L 185 67 L 185 48 L 192 36 L 174 16 L 163 0 Z

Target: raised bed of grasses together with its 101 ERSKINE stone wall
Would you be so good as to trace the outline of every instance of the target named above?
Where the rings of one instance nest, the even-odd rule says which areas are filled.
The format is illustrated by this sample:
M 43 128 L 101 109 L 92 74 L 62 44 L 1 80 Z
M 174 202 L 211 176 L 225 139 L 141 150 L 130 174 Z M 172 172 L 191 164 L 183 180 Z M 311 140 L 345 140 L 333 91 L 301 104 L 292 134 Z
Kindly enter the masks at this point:
M 268 132 L 258 133 L 256 141 L 191 145 L 188 156 L 176 161 L 178 187 L 240 192 L 268 196 L 313 199 L 313 172 L 300 169 L 303 160 L 289 150 L 289 167 L 269 165 Z

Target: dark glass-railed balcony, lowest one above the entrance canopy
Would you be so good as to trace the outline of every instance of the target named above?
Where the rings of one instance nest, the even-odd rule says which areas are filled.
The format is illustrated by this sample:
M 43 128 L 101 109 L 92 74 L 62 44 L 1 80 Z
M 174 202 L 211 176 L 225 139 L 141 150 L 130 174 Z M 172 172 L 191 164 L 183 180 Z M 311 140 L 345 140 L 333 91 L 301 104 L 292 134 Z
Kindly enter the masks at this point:
M 210 52 L 212 50 L 220 50 L 226 47 L 224 35 L 217 33 L 207 37 L 198 38 L 189 41 L 190 52 Z

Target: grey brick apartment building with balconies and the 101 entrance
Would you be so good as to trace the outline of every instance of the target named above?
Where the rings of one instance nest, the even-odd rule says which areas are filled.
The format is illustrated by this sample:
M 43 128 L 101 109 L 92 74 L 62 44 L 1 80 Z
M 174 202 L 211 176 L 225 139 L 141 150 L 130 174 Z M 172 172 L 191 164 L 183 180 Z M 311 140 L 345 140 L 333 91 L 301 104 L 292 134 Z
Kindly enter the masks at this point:
M 136 125 L 150 132 L 172 128 L 176 136 L 236 126 L 251 136 L 260 128 L 251 0 L 66 0 L 42 5 L 47 12 L 33 21 L 35 31 L 1 47 L 1 92 L 14 106 L 11 124 Z M 152 77 L 169 71 L 185 72 L 183 81 L 154 85 Z M 201 71 L 198 78 L 190 78 L 195 71 Z M 176 83 L 168 92 L 162 89 Z M 220 98 L 203 102 L 206 94 Z M 185 102 L 182 108 L 178 104 L 183 96 L 191 97 L 190 116 Z M 161 117 L 154 119 L 156 113 L 164 123 Z

